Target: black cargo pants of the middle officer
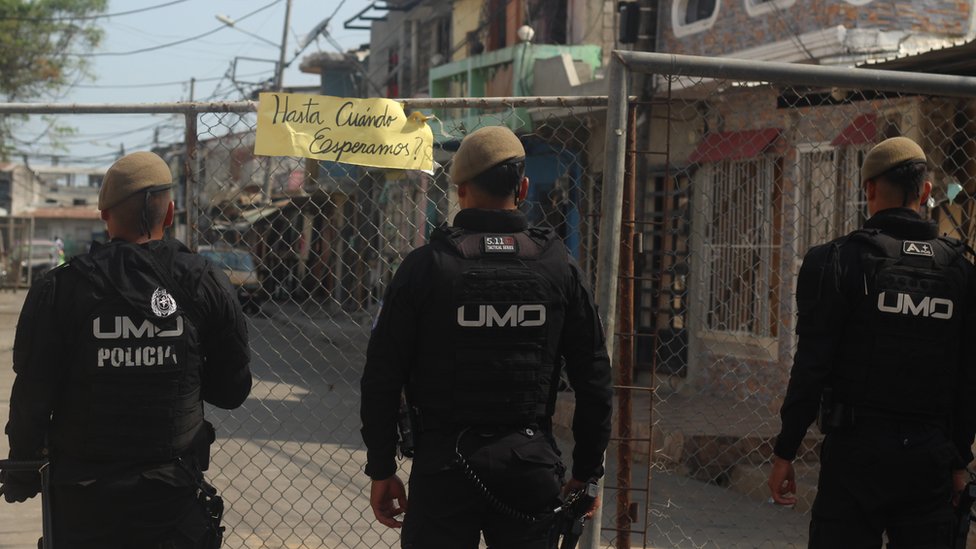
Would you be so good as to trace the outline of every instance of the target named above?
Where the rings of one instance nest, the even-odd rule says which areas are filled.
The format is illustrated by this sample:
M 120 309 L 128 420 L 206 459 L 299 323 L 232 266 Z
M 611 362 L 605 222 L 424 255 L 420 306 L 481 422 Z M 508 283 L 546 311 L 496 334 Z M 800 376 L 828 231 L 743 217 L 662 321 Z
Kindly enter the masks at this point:
M 404 549 L 549 549 L 551 520 L 526 521 L 489 502 L 455 460 L 456 433 L 417 442 L 403 525 Z M 503 506 L 544 515 L 558 506 L 565 471 L 552 439 L 537 429 L 471 429 L 461 453 Z

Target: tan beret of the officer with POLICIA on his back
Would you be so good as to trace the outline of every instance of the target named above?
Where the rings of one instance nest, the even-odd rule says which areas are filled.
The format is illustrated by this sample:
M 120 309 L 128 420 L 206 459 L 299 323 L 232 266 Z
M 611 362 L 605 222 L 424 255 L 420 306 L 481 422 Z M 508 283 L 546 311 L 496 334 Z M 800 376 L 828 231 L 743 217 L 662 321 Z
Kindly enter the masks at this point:
M 98 209 L 107 210 L 140 191 L 162 191 L 173 186 L 173 174 L 158 155 L 141 151 L 118 159 L 105 172 L 98 191 Z

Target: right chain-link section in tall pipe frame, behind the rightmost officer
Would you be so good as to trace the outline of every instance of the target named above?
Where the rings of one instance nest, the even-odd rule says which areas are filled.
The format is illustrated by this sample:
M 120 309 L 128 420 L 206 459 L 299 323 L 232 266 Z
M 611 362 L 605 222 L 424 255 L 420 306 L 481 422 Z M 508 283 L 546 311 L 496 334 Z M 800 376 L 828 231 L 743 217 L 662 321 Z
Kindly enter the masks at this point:
M 795 508 L 769 503 L 766 487 L 796 349 L 800 263 L 811 246 L 862 225 L 863 156 L 896 135 L 928 155 L 934 191 L 924 214 L 973 243 L 976 79 L 662 54 L 618 60 L 627 69 L 611 82 L 608 128 L 626 128 L 612 147 L 623 170 L 604 175 L 603 212 L 623 206 L 617 379 L 641 390 L 618 391 L 628 434 L 611 452 L 618 474 L 607 500 L 618 505 L 604 540 L 805 547 L 815 428 L 796 461 Z M 625 99 L 621 74 L 640 100 Z M 648 433 L 650 452 L 628 440 Z M 641 461 L 649 479 L 626 470 Z

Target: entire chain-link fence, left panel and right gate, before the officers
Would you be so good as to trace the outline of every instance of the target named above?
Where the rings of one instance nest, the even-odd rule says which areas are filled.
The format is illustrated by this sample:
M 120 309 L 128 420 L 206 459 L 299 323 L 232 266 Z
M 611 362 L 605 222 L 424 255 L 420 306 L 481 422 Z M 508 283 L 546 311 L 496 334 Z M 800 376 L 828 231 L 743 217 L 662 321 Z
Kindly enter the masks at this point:
M 809 246 L 864 220 L 857 171 L 872 144 L 918 140 L 936 189 L 928 214 L 949 234 L 972 240 L 976 230 L 969 79 L 716 66 L 620 54 L 609 107 L 605 97 L 404 100 L 437 116 L 442 165 L 465 133 L 513 128 L 532 182 L 522 207 L 558 231 L 594 282 L 610 344 L 624 351 L 614 357 L 601 546 L 805 544 L 819 438 L 811 434 L 798 459 L 795 509 L 766 503 L 765 488 L 795 348 L 795 277 Z M 639 99 L 628 97 L 629 76 Z M 219 433 L 209 476 L 228 503 L 227 546 L 395 547 L 398 532 L 369 509 L 359 377 L 385 285 L 456 201 L 439 168 L 255 157 L 253 109 L 0 113 L 184 119 L 185 139 L 155 147 L 181 181 L 174 236 L 224 267 L 252 340 L 251 398 L 232 412 L 208 410 Z M 5 246 L 53 238 L 12 211 L 0 226 Z M 571 412 L 571 395 L 561 395 L 557 426 Z

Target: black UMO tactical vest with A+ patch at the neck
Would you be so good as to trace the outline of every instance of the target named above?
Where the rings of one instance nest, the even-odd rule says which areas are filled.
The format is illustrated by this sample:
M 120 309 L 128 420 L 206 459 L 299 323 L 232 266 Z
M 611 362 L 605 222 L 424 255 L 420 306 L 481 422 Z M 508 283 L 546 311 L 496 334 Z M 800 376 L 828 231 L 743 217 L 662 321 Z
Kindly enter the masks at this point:
M 840 361 L 838 400 L 855 416 L 944 419 L 953 402 L 965 315 L 966 274 L 957 241 L 852 233 L 864 272 Z M 855 417 L 856 421 L 856 417 Z

